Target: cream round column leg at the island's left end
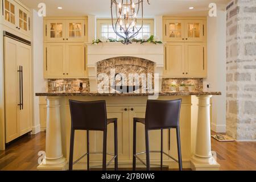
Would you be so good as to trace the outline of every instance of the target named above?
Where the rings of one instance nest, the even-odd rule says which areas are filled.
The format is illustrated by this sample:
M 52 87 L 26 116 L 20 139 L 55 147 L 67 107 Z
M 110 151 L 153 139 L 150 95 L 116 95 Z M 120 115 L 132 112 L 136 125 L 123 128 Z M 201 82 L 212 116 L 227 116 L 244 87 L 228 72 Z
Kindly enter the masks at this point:
M 38 166 L 42 170 L 65 170 L 60 125 L 60 98 L 47 97 L 46 158 Z

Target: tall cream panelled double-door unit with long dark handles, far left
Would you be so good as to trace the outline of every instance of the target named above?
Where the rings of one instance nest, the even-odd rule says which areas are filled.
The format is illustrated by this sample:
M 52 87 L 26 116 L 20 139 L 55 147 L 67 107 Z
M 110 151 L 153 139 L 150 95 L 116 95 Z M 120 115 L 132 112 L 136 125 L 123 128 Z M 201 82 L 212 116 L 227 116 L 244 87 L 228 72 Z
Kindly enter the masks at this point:
M 32 130 L 31 46 L 9 35 L 4 43 L 5 142 L 9 143 Z

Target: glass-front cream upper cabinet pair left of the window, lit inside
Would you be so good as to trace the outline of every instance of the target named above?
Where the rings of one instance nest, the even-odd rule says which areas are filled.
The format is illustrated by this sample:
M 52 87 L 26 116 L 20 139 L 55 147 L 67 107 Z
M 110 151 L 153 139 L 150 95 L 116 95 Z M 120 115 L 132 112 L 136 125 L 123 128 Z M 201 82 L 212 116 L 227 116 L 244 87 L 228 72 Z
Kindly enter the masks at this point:
M 86 42 L 86 17 L 47 17 L 44 19 L 45 42 Z

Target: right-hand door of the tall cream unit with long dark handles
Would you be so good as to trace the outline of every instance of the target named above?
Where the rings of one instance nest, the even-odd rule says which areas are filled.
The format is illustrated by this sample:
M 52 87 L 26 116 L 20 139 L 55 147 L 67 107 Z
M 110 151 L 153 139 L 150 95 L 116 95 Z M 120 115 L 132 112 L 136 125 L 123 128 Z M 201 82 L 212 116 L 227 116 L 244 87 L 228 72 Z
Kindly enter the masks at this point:
M 22 66 L 22 110 L 19 113 L 19 136 L 32 130 L 31 128 L 31 46 L 19 43 L 18 63 Z

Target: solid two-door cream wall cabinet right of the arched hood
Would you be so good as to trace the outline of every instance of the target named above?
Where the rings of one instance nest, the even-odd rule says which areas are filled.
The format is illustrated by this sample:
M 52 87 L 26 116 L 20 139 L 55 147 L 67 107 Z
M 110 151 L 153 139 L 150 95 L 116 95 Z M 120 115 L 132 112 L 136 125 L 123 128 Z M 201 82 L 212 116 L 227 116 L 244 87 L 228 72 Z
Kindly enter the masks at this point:
M 165 77 L 207 77 L 207 43 L 167 43 L 165 55 Z

